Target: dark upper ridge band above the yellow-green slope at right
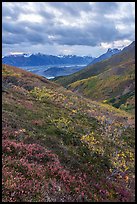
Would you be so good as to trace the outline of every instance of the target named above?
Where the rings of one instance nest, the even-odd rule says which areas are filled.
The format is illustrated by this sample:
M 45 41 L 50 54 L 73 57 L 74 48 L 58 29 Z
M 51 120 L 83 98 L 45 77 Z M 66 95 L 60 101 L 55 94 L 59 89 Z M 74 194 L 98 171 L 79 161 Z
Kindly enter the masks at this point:
M 106 59 L 102 62 L 98 62 L 94 65 L 89 65 L 83 70 L 65 77 L 56 77 L 53 81 L 58 82 L 63 86 L 67 86 L 75 81 L 86 79 L 90 76 L 95 76 L 108 70 L 112 66 L 117 66 L 120 63 L 126 62 L 127 59 L 135 59 L 135 42 L 128 47 L 124 48 L 119 54 L 112 56 L 110 59 Z

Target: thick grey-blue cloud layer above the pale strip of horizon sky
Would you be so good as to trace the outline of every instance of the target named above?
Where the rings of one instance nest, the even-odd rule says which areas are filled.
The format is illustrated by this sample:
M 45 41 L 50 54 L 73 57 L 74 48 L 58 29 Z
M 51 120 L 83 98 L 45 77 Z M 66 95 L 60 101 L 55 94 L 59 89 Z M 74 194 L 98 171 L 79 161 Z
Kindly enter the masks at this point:
M 27 42 L 29 46 L 98 46 L 102 42 L 133 40 L 134 15 L 130 4 L 129 13 L 127 9 L 124 13 L 124 7 L 123 11 L 119 10 L 125 4 L 126 2 L 3 2 L 3 45 Z M 117 24 L 120 24 L 119 27 L 122 24 L 125 28 L 117 28 Z

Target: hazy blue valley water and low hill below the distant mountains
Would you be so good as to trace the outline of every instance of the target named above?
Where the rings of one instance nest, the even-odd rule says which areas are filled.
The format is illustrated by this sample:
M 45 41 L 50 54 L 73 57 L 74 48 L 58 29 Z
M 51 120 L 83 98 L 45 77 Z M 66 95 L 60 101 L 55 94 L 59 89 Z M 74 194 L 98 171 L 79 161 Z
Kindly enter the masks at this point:
M 64 65 L 42 65 L 42 66 L 23 66 L 20 67 L 21 69 L 24 69 L 26 71 L 32 72 L 34 74 L 37 74 L 39 76 L 44 76 L 47 79 L 53 79 L 56 76 L 66 76 L 72 73 L 75 73 L 82 68 L 87 66 L 86 64 L 80 64 L 80 65 L 70 65 L 70 64 L 64 64 Z M 52 68 L 52 71 L 50 70 Z M 62 68 L 62 71 L 60 69 L 60 72 L 58 72 L 58 68 Z M 47 73 L 46 73 L 46 70 Z

